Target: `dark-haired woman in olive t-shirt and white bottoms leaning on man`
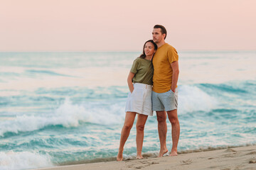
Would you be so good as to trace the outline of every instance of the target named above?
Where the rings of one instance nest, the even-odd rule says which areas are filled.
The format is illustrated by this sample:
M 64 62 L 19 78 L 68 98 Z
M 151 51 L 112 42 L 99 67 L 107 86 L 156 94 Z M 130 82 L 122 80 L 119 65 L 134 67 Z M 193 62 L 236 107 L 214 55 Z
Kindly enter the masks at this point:
M 144 125 L 148 115 L 153 115 L 153 111 L 151 109 L 151 89 L 154 69 L 151 60 L 156 49 L 157 45 L 153 40 L 146 41 L 144 44 L 143 54 L 134 60 L 132 69 L 129 72 L 127 79 L 129 94 L 125 108 L 126 115 L 121 132 L 117 161 L 122 161 L 123 159 L 122 152 L 124 150 L 124 144 L 129 137 L 129 132 L 132 129 L 134 118 L 137 114 L 137 159 L 143 158 L 142 144 L 144 138 Z

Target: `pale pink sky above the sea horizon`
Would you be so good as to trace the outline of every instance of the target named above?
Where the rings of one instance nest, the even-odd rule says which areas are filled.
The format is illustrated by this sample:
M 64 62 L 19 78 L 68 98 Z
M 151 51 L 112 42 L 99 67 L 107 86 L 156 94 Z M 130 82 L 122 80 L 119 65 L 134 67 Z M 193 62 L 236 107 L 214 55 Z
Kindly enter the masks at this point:
M 256 50 L 255 0 L 0 0 L 0 51 Z

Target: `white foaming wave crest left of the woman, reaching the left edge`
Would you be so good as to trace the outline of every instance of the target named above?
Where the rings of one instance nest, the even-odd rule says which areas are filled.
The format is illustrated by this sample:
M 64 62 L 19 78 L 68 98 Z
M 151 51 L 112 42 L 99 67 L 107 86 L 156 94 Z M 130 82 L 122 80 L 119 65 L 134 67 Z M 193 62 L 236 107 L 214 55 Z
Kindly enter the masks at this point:
M 63 125 L 65 128 L 70 128 L 78 127 L 81 123 L 117 124 L 124 118 L 124 114 L 117 114 L 122 110 L 122 106 L 114 104 L 110 108 L 94 107 L 86 111 L 84 106 L 75 105 L 66 98 L 51 115 L 18 115 L 12 120 L 1 122 L 0 135 L 4 136 L 6 132 L 31 132 L 49 125 Z

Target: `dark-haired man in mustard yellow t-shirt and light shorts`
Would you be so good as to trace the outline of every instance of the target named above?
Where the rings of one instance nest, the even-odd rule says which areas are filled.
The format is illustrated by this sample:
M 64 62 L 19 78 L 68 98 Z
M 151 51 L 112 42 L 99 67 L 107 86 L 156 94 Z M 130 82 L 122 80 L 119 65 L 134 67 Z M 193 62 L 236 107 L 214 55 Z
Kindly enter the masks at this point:
M 171 122 L 171 137 L 173 146 L 170 156 L 178 155 L 178 138 L 180 125 L 178 122 L 178 54 L 176 49 L 165 42 L 166 28 L 161 25 L 154 26 L 153 40 L 158 49 L 153 58 L 154 75 L 152 91 L 152 110 L 156 111 L 160 140 L 159 157 L 168 152 L 166 147 L 166 112 Z

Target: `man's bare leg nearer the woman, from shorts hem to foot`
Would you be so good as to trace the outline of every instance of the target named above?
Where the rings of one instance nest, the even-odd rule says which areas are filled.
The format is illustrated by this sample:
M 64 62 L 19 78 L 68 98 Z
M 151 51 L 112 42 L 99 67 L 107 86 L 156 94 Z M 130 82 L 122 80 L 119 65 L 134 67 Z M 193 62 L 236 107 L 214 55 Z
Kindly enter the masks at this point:
M 167 133 L 167 124 L 166 124 L 166 112 L 165 111 L 156 111 L 157 121 L 158 121 L 158 131 L 159 131 L 159 140 L 160 140 L 160 152 L 159 157 L 168 152 L 166 147 L 166 133 Z

